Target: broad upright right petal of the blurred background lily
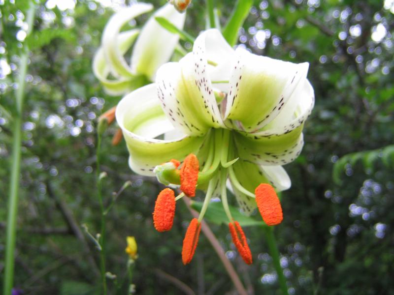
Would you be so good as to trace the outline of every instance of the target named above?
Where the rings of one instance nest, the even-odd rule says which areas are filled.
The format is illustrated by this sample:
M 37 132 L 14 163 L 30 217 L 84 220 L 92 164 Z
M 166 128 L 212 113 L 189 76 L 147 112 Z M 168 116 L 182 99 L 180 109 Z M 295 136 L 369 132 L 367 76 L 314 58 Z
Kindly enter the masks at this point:
M 167 3 L 156 11 L 142 28 L 132 51 L 131 67 L 132 72 L 145 74 L 151 81 L 155 80 L 157 69 L 171 58 L 179 40 L 177 34 L 159 25 L 155 20 L 158 16 L 166 18 L 178 29 L 182 29 L 186 13 L 179 13 Z

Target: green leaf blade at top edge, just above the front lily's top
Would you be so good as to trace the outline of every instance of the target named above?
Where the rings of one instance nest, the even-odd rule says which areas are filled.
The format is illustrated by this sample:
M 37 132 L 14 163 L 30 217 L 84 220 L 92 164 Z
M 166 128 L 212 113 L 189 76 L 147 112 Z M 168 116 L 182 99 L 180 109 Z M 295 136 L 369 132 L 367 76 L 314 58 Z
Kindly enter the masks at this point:
M 242 27 L 252 5 L 253 0 L 238 0 L 235 4 L 230 20 L 223 30 L 223 36 L 231 46 L 234 46 L 237 42 L 238 29 Z

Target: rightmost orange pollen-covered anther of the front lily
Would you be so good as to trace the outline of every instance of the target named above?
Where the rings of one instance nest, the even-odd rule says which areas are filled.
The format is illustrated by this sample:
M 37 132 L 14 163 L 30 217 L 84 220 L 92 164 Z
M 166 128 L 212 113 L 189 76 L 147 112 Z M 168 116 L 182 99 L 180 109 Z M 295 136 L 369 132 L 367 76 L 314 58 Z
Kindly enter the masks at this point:
M 256 190 L 256 203 L 267 225 L 277 225 L 283 220 L 282 207 L 275 189 L 268 183 L 260 184 Z

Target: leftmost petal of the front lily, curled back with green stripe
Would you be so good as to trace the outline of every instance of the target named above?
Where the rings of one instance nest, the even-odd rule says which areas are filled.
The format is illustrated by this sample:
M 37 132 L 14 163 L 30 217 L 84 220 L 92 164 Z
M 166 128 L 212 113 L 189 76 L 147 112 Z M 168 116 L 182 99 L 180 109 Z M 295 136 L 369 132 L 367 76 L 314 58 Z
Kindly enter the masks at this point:
M 140 175 L 154 176 L 157 165 L 197 153 L 204 140 L 189 136 L 172 141 L 155 139 L 173 129 L 157 99 L 155 84 L 126 95 L 116 108 L 116 120 L 130 152 L 130 167 Z

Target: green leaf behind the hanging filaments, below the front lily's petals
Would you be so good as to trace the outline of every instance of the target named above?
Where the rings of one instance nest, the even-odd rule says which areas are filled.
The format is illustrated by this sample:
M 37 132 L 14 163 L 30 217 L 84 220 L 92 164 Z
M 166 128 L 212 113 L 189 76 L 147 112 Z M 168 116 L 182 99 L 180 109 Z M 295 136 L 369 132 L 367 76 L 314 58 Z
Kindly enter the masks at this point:
M 199 212 L 202 208 L 202 202 L 192 201 L 191 206 Z M 230 212 L 234 220 L 239 222 L 240 226 L 266 226 L 263 220 L 256 220 L 252 217 L 245 216 L 235 207 L 230 206 Z M 209 204 L 204 218 L 218 225 L 229 224 L 229 219 L 227 218 L 221 202 Z

